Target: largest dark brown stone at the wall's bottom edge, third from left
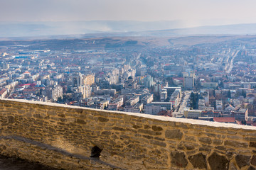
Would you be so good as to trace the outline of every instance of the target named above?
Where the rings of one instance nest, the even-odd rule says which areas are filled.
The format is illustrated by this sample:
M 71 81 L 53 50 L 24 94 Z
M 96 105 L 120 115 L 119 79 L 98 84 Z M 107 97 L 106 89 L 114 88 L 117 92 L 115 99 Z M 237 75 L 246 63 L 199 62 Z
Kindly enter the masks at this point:
M 208 163 L 211 170 L 228 170 L 228 159 L 223 155 L 217 154 L 216 152 L 213 152 L 213 154 L 208 157 Z

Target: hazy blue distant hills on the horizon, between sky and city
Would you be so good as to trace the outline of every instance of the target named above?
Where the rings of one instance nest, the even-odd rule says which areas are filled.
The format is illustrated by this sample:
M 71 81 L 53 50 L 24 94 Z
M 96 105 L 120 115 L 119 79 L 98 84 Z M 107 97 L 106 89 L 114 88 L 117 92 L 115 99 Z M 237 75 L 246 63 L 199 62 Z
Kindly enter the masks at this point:
M 96 38 L 107 36 L 256 35 L 256 23 L 186 28 L 181 21 L 0 22 L 0 38 Z M 56 36 L 58 35 L 58 36 Z M 61 36 L 59 36 L 61 35 Z

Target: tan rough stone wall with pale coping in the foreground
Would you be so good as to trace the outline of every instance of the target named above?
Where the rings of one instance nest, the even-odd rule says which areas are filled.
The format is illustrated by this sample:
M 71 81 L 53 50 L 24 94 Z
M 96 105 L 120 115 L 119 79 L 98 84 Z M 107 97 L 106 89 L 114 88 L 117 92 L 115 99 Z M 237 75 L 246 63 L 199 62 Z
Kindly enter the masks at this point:
M 62 169 L 256 167 L 256 128 L 242 125 L 1 99 L 0 132 L 0 154 Z

